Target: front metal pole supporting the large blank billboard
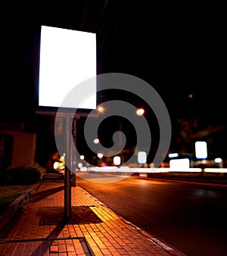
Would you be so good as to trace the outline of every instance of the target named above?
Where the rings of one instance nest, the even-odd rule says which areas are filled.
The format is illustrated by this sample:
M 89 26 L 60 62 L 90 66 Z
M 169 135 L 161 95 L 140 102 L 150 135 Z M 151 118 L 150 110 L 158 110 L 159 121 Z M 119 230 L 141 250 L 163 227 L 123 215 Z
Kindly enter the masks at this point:
M 65 170 L 64 170 L 64 218 L 69 220 L 71 217 L 71 123 L 70 114 L 66 114 L 65 118 Z

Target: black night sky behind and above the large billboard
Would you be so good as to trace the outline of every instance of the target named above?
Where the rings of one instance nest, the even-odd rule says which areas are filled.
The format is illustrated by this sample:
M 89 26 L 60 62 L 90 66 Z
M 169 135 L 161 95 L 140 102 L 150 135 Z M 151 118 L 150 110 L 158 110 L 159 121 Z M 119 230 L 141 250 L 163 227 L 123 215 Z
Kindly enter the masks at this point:
M 1 116 L 33 127 L 39 25 L 78 27 L 83 13 L 72 3 L 51 8 L 42 2 L 17 5 L 2 10 L 6 16 Z M 223 6 L 208 2 L 155 6 L 149 1 L 123 5 L 123 1 L 109 0 L 103 16 L 98 16 L 98 10 L 97 4 L 94 16 L 91 10 L 87 13 L 84 28 L 91 28 L 94 21 L 94 29 L 98 23 L 99 73 L 129 73 L 150 83 L 166 103 L 173 125 L 186 116 L 204 116 L 210 123 L 226 125 Z M 194 97 L 188 98 L 189 94 Z

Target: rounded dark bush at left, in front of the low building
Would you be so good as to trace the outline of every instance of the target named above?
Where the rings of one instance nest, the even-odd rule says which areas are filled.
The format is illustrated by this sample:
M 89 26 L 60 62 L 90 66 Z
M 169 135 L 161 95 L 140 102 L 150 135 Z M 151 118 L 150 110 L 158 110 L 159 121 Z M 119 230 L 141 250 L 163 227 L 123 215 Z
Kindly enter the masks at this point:
M 21 166 L 8 168 L 5 177 L 6 185 L 31 185 L 41 179 L 40 170 L 36 167 Z

